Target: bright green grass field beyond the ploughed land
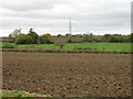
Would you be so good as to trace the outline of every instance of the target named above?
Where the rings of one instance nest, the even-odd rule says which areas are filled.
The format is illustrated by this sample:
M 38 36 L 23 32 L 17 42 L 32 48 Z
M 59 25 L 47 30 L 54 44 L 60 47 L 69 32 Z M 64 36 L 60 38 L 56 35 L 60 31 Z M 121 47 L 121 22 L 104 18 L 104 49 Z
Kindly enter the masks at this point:
M 0 43 L 1 46 L 6 44 L 17 45 L 14 43 Z M 54 44 L 24 44 L 17 45 L 18 48 L 50 48 L 50 50 L 59 50 L 60 46 L 55 46 Z M 96 48 L 104 51 L 131 51 L 131 43 L 66 43 L 64 45 L 64 50 L 73 50 L 73 48 Z

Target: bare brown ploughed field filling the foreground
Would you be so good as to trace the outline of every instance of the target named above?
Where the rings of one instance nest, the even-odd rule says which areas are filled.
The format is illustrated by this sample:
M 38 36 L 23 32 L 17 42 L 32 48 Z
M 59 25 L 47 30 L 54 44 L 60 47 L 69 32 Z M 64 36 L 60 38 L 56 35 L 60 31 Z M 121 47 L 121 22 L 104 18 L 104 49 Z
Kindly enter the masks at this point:
M 131 96 L 131 56 L 2 53 L 3 89 L 62 97 Z

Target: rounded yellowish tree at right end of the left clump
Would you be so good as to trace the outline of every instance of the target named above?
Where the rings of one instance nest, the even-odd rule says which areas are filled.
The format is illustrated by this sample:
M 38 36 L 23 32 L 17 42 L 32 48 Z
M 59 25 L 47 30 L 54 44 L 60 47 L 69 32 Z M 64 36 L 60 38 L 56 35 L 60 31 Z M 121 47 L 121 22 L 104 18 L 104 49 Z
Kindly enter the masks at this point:
M 52 36 L 47 33 L 47 34 L 43 34 L 42 36 L 40 36 L 39 41 L 41 44 L 50 44 L 51 43 L 51 40 L 52 40 Z

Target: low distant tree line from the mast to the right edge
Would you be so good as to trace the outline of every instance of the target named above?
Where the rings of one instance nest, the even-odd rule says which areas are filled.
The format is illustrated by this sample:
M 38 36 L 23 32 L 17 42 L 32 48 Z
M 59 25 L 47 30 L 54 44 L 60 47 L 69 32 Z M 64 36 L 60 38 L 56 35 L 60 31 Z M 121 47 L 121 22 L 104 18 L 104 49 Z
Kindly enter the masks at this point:
M 129 35 L 122 35 L 122 34 L 104 34 L 104 35 L 94 35 L 93 33 L 89 34 L 65 34 L 65 35 L 57 35 L 55 37 L 70 37 L 68 41 L 71 43 L 71 37 L 82 37 L 82 42 L 86 43 L 93 43 L 93 42 L 108 42 L 108 43 L 130 43 L 133 42 L 133 33 Z

